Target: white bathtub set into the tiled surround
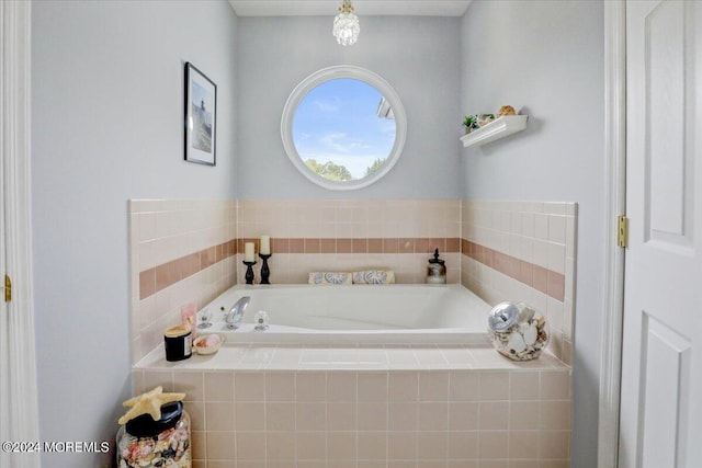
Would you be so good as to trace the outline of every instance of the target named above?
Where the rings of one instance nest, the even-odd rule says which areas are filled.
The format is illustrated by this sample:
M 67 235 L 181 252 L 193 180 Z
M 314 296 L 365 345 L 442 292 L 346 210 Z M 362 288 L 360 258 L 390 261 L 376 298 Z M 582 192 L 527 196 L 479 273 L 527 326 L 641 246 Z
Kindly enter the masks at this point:
M 242 324 L 229 330 L 226 312 L 250 296 Z M 235 286 L 202 310 L 228 343 L 484 344 L 490 306 L 461 285 Z M 253 318 L 268 312 L 269 329 Z M 202 311 L 201 311 L 202 313 Z

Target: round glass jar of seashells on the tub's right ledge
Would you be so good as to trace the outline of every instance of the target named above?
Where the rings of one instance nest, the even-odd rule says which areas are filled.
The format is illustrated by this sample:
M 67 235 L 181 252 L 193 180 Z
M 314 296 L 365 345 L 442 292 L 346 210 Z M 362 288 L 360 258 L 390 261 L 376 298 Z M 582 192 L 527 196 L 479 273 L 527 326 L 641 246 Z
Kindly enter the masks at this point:
M 548 344 L 546 320 L 524 303 L 495 306 L 487 331 L 492 347 L 512 361 L 535 359 Z

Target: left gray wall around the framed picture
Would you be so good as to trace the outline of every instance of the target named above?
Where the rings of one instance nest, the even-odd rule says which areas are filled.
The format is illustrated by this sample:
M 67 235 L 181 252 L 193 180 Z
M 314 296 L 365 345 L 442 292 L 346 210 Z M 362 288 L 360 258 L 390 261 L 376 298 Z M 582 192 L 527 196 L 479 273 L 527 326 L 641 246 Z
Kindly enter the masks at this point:
M 234 198 L 226 1 L 34 2 L 32 196 L 43 441 L 111 441 L 131 395 L 128 198 Z M 218 84 L 217 167 L 184 162 L 183 61 Z M 104 455 L 43 454 L 50 467 Z

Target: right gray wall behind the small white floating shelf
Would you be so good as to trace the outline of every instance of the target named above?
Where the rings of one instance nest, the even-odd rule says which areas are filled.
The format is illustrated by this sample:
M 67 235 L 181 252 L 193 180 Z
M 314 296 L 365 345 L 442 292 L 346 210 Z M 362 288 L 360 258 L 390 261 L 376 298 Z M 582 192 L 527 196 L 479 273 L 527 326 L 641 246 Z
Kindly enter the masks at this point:
M 473 2 L 462 24 L 462 109 L 511 104 L 526 130 L 463 151 L 464 197 L 577 202 L 573 467 L 597 465 L 604 270 L 601 1 Z

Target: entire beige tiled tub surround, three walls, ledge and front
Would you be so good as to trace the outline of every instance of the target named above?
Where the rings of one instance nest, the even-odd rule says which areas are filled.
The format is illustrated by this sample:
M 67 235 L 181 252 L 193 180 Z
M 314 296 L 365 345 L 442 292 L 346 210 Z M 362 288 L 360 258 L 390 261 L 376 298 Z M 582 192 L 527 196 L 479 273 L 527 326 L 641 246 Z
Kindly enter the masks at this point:
M 491 304 L 525 300 L 545 312 L 553 351 L 568 362 L 575 205 L 239 201 L 235 209 L 235 202 L 226 202 L 222 214 L 229 217 L 220 224 L 226 235 L 205 244 L 188 231 L 163 231 L 185 221 L 135 219 L 178 212 L 177 204 L 145 202 L 131 212 L 132 237 L 140 239 L 132 244 L 133 349 L 137 359 L 143 356 L 133 385 L 135 393 L 157 385 L 188 393 L 194 467 L 569 466 L 570 369 L 550 354 L 514 363 L 479 345 L 251 344 L 168 363 L 158 344 L 162 329 L 178 321 L 180 305 L 203 288 L 197 283 L 204 282 L 213 298 L 235 283 L 234 271 L 244 277 L 236 253 L 242 249 L 234 240 L 258 242 L 267 233 L 273 283 L 305 283 L 312 270 L 367 267 L 393 269 L 400 283 L 423 283 L 427 260 L 439 247 L 449 282 L 460 281 Z M 160 235 L 152 222 L 161 226 Z M 141 246 L 157 239 L 163 241 L 160 248 Z M 217 262 L 206 266 L 213 247 Z M 150 261 L 140 263 L 143 252 Z M 155 279 L 155 290 L 163 287 L 139 299 L 139 273 L 156 269 L 156 274 L 166 264 L 186 267 L 196 252 L 199 273 L 168 286 Z

